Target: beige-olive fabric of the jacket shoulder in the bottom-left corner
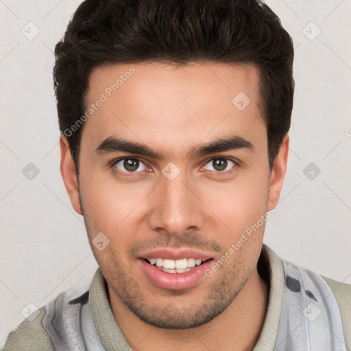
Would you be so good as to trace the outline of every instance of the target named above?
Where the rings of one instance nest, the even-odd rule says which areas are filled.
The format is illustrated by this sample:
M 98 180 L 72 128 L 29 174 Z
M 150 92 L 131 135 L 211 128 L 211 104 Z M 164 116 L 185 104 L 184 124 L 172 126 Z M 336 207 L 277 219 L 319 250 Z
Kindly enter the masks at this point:
M 34 317 L 34 313 L 38 315 Z M 53 351 L 51 339 L 42 324 L 46 313 L 45 306 L 34 313 L 27 317 L 15 330 L 10 332 L 3 351 Z

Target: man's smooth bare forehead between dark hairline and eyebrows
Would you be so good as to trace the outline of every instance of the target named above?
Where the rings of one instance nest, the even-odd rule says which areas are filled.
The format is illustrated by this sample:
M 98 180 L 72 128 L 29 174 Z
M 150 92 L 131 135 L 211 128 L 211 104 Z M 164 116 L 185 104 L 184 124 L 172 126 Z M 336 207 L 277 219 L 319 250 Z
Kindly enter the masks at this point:
M 266 134 L 258 77 L 253 64 L 99 66 L 90 75 L 86 110 L 104 102 L 87 119 L 82 139 L 85 134 L 97 145 L 125 136 L 162 149 L 170 145 L 170 152 L 172 143 L 179 149 L 227 132 L 255 142 Z

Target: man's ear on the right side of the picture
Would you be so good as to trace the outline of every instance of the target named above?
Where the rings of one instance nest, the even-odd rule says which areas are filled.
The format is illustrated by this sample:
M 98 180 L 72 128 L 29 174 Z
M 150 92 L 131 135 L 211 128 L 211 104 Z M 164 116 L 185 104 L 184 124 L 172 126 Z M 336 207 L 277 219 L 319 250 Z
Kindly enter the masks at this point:
M 280 191 L 282 190 L 282 184 L 284 183 L 285 172 L 287 171 L 287 162 L 289 155 L 289 135 L 286 134 L 280 145 L 278 155 L 274 160 L 274 164 L 271 169 L 271 180 L 269 183 L 269 200 L 268 210 L 278 205 Z

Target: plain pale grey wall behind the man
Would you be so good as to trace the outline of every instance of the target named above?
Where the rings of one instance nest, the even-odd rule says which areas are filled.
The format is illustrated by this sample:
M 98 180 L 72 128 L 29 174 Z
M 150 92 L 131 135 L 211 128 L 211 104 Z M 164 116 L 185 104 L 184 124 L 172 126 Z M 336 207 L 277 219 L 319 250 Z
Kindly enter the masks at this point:
M 0 347 L 23 309 L 73 285 L 88 289 L 97 268 L 60 175 L 51 77 L 53 49 L 80 2 L 0 1 Z M 287 177 L 264 242 L 351 283 L 351 1 L 267 3 L 293 37 L 296 86 Z

